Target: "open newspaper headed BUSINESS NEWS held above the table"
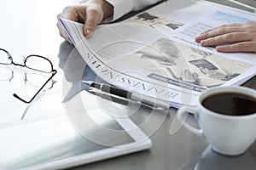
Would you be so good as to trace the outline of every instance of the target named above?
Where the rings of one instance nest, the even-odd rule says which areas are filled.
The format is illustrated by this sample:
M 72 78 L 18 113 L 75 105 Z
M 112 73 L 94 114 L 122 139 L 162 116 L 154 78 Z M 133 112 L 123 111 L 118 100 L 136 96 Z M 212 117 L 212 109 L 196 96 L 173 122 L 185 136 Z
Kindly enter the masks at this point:
M 256 14 L 217 3 L 172 0 L 84 38 L 83 25 L 61 19 L 71 41 L 98 77 L 119 88 L 195 105 L 207 88 L 241 85 L 256 73 L 256 56 L 218 53 L 195 37 L 209 28 L 256 20 Z

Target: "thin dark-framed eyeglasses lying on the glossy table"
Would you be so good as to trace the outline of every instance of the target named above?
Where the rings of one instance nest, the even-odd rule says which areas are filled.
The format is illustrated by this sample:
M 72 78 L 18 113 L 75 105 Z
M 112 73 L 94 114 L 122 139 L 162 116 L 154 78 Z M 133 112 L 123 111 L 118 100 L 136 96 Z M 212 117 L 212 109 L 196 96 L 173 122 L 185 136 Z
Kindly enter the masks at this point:
M 56 70 L 53 69 L 53 65 L 51 63 L 51 61 L 43 56 L 40 56 L 40 55 L 29 55 L 27 56 L 26 58 L 24 58 L 24 63 L 23 65 L 20 65 L 20 64 L 16 64 L 14 61 L 13 61 L 13 58 L 12 56 L 9 54 L 8 51 L 6 51 L 5 49 L 3 48 L 0 48 L 0 64 L 1 65 L 17 65 L 17 66 L 21 66 L 21 67 L 26 67 L 30 70 L 33 70 L 33 71 L 38 71 L 38 72 L 41 72 L 41 73 L 50 73 L 51 76 L 46 80 L 46 82 L 43 83 L 43 85 L 41 86 L 41 88 L 38 89 L 38 92 L 36 94 L 34 94 L 32 96 L 32 99 L 29 99 L 29 100 L 26 100 L 26 99 L 22 99 L 20 98 L 19 95 L 17 94 L 13 94 L 15 98 L 17 99 L 20 99 L 21 101 L 25 102 L 25 103 L 31 103 L 33 99 L 35 99 L 35 97 L 39 94 L 39 92 L 46 86 L 46 84 L 52 80 L 52 77 L 55 76 L 55 74 L 57 73 Z M 9 71 L 11 72 L 11 74 L 4 74 L 3 72 L 1 73 L 2 75 L 5 75 L 5 77 L 1 77 L 0 75 L 0 80 L 8 80 L 9 82 L 13 79 L 13 70 L 7 66 L 5 66 L 3 69 L 5 69 L 5 71 Z M 34 78 L 30 78 L 30 80 L 32 81 L 28 81 L 28 77 L 27 75 L 30 74 L 29 72 L 26 72 L 25 73 L 25 80 L 27 82 L 31 82 L 33 86 L 38 86 L 38 83 L 33 83 Z M 33 75 L 33 74 L 30 74 L 30 75 Z M 54 82 L 51 83 L 51 86 L 54 84 Z

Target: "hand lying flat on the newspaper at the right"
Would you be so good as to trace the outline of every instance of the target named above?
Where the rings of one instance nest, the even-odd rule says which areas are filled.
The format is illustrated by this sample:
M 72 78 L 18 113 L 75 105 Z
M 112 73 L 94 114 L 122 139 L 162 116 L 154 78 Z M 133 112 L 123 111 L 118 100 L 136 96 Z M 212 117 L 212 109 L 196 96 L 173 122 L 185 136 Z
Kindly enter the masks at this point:
M 256 53 L 256 22 L 218 26 L 195 37 L 202 46 L 217 46 L 218 52 Z

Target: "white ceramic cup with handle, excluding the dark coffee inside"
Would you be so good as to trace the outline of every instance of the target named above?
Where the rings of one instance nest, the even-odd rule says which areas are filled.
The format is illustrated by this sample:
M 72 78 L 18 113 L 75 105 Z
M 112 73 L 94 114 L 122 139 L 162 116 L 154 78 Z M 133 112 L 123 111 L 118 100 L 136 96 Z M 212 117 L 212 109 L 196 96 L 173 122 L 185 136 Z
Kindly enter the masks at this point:
M 182 122 L 184 127 L 196 133 L 211 144 L 212 150 L 218 153 L 236 156 L 249 148 L 256 139 L 256 111 L 245 116 L 230 116 L 219 114 L 208 110 L 202 105 L 202 101 L 212 94 L 239 93 L 256 98 L 256 90 L 244 87 L 218 87 L 209 88 L 197 99 L 196 107 L 182 106 L 177 111 L 177 120 Z M 195 119 L 201 129 L 192 127 L 185 118 L 187 112 L 195 113 Z

